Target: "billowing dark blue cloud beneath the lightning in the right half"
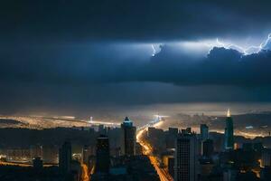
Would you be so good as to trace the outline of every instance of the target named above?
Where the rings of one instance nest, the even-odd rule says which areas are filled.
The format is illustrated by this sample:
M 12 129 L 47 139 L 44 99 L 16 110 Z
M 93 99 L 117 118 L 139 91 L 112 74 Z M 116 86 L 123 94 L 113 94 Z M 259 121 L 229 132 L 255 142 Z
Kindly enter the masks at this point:
M 142 81 L 178 85 L 269 86 L 271 51 L 244 55 L 236 50 L 213 48 L 207 57 L 192 61 L 166 46 L 145 66 Z

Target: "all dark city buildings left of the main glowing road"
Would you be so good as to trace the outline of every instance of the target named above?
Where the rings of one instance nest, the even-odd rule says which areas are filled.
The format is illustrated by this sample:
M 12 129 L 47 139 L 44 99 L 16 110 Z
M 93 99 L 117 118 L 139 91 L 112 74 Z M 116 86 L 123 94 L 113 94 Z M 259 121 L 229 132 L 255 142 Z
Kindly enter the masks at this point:
M 84 145 L 79 152 L 74 146 L 77 139 L 68 138 L 60 147 L 51 147 L 50 159 L 47 147 L 42 145 L 6 148 L 5 152 L 2 150 L 5 157 L 1 159 L 2 163 L 9 165 L 0 167 L 0 172 L 5 173 L 0 174 L 0 180 L 159 180 L 149 158 L 142 155 L 142 149 L 136 143 L 136 128 L 127 117 L 121 128 L 99 125 L 97 131 L 75 129 L 67 129 L 66 134 L 71 131 L 73 137 L 84 139 L 84 134 L 79 132 L 87 131 L 89 137 L 95 137 L 94 144 Z

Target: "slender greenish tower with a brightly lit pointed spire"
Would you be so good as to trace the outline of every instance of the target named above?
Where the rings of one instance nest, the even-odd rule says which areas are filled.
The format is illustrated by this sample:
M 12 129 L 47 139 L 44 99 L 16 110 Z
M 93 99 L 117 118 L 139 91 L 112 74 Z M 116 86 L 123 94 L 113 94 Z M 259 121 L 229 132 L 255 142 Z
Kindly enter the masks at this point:
M 230 116 L 230 112 L 227 112 L 227 119 L 226 119 L 226 128 L 224 133 L 224 148 L 233 149 L 234 148 L 234 139 L 233 139 L 233 120 Z

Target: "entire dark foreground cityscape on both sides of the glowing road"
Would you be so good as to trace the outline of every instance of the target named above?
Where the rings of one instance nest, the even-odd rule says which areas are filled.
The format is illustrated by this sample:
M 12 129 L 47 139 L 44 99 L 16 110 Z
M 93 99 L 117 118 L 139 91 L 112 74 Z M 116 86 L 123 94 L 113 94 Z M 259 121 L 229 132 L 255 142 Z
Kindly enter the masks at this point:
M 229 111 L 225 123 L 224 134 L 210 132 L 206 124 L 201 124 L 200 134 L 191 128 L 149 127 L 142 141 L 151 147 L 151 157 L 157 157 L 155 167 L 136 142 L 136 128 L 127 117 L 117 129 L 102 125 L 97 131 L 67 129 L 63 133 L 70 131 L 74 139 L 59 147 L 6 149 L 1 163 L 31 161 L 33 167 L 0 167 L 0 180 L 158 181 L 157 169 L 175 181 L 271 180 L 271 149 L 260 141 L 240 141 L 234 136 Z M 76 149 L 77 139 L 86 144 Z

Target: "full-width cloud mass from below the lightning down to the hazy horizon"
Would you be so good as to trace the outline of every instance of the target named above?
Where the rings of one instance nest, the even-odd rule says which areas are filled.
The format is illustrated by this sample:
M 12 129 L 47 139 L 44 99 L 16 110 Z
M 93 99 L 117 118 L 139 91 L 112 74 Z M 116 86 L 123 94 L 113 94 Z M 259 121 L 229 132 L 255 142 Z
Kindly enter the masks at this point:
M 195 59 L 164 45 L 144 60 L 95 44 L 20 46 L 1 49 L 1 55 L 0 113 L 77 114 L 107 104 L 271 100 L 269 51 L 244 56 L 214 48 Z

